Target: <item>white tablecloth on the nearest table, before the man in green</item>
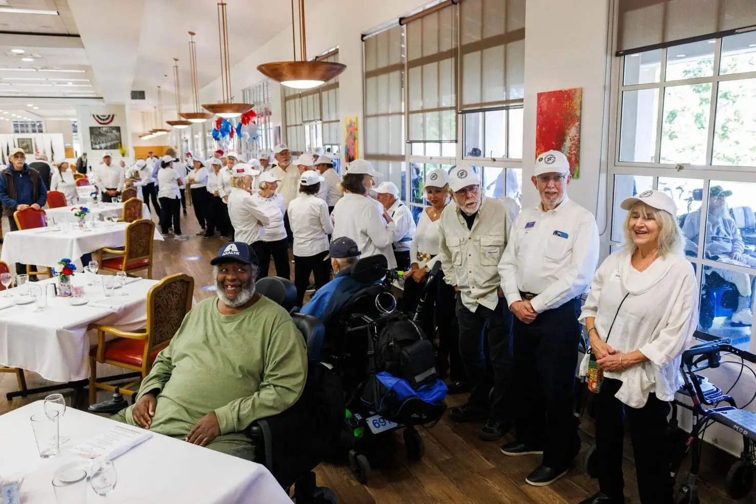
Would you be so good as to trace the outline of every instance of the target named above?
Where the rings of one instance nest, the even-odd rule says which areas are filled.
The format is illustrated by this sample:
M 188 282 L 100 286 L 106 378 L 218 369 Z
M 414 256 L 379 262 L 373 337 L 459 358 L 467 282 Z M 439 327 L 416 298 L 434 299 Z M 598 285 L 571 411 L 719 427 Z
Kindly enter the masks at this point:
M 76 460 L 67 451 L 104 434 L 116 422 L 67 408 L 60 431 L 71 441 L 51 459 L 39 458 L 29 417 L 43 411 L 42 401 L 0 416 L 0 475 L 23 476 L 21 502 L 55 502 L 52 477 L 57 468 Z M 110 494 L 119 504 L 291 504 L 291 499 L 264 466 L 185 441 L 154 434 L 113 461 L 118 484 Z M 88 502 L 105 502 L 87 484 Z

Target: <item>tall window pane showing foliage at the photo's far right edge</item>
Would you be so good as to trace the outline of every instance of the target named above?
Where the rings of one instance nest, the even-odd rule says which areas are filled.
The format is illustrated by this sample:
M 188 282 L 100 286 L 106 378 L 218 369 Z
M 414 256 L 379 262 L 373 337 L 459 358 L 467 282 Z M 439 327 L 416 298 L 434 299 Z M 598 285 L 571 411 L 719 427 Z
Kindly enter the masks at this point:
M 753 57 L 756 61 L 756 52 Z M 712 164 L 756 166 L 756 116 L 744 113 L 754 106 L 756 79 L 719 83 Z

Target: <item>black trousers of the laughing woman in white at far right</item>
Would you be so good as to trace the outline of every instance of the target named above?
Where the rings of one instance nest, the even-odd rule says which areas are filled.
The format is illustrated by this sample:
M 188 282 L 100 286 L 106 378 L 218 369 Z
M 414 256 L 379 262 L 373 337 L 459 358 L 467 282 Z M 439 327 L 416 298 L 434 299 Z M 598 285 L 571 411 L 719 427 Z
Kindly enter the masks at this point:
M 669 403 L 649 394 L 642 408 L 625 406 L 615 397 L 622 386 L 605 378 L 596 397 L 596 453 L 599 457 L 601 491 L 613 499 L 622 498 L 622 446 L 624 423 L 630 428 L 635 456 L 635 474 L 641 504 L 672 504 L 673 481 L 669 475 L 667 415 Z

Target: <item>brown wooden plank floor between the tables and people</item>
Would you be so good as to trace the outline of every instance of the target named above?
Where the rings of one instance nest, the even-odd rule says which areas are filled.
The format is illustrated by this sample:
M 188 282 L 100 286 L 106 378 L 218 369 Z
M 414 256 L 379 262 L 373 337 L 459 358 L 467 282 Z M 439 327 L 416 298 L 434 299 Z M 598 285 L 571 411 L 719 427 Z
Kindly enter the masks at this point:
M 5 230 L 8 223 L 5 221 Z M 195 237 L 197 221 L 191 208 L 189 215 L 182 219 L 182 230 L 191 236 L 186 242 L 175 242 L 172 238 L 155 243 L 155 267 L 153 277 L 160 279 L 169 274 L 187 273 L 195 279 L 194 296 L 200 299 L 211 297 L 214 292 L 203 290 L 213 286 L 212 268 L 208 261 L 215 257 L 223 242 L 220 238 L 203 240 Z M 193 260 L 200 258 L 199 260 Z M 273 272 L 271 271 L 271 274 Z M 119 372 L 113 368 L 113 373 Z M 100 373 L 98 373 L 100 374 Z M 103 373 L 104 374 L 107 373 Z M 27 373 L 29 387 L 50 385 L 49 382 Z M 0 374 L 0 394 L 16 389 L 13 374 Z M 107 393 L 101 392 L 101 400 Z M 33 400 L 15 399 L 11 402 L 0 399 L 0 414 L 21 407 Z M 463 396 L 448 397 L 448 405 L 457 406 L 464 402 Z M 528 407 L 526 397 L 522 404 L 513 407 Z M 421 504 L 448 502 L 460 504 L 576 504 L 597 490 L 596 481 L 591 480 L 580 468 L 582 455 L 591 442 L 593 426 L 586 415 L 581 425 L 584 438 L 583 453 L 576 461 L 576 467 L 564 478 L 549 487 L 531 487 L 525 484 L 525 476 L 539 463 L 537 456 L 507 457 L 499 447 L 503 441 L 487 443 L 477 436 L 479 424 L 456 424 L 443 419 L 428 430 L 420 429 L 426 444 L 425 457 L 419 462 L 407 461 L 403 441 L 398 433 L 389 434 L 381 443 L 379 453 L 371 458 L 373 477 L 367 485 L 358 484 L 345 463 L 322 464 L 316 469 L 318 484 L 333 489 L 344 504 Z M 710 450 L 702 469 L 699 496 L 702 504 L 735 502 L 723 491 L 724 475 L 733 462 L 729 456 L 717 450 Z M 627 502 L 639 502 L 631 462 L 632 451 L 626 442 L 624 474 Z M 686 475 L 681 472 L 680 480 Z M 746 502 L 744 499 L 742 502 Z

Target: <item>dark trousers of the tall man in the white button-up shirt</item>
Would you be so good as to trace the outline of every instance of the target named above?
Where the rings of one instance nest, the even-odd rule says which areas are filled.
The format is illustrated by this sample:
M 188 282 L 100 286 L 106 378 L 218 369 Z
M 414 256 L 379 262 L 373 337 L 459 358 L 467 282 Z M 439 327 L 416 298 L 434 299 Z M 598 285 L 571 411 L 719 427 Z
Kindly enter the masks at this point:
M 514 376 L 528 407 L 516 409 L 517 441 L 544 450 L 543 463 L 562 471 L 578 454 L 575 369 L 580 299 L 544 311 L 529 324 L 514 317 Z

